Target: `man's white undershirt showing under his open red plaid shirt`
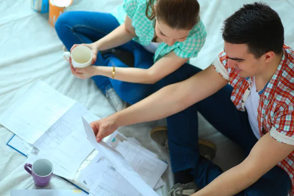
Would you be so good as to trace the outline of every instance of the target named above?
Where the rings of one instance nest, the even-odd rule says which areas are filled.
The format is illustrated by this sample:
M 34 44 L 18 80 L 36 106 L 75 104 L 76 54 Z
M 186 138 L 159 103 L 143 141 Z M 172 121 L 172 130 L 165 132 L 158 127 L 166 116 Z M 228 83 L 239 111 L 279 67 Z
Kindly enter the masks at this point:
M 256 92 L 255 77 L 252 77 L 251 91 L 248 98 L 245 101 L 245 108 L 248 113 L 248 119 L 251 129 L 255 137 L 259 140 L 260 133 L 258 129 L 257 114 L 258 114 L 259 95 Z

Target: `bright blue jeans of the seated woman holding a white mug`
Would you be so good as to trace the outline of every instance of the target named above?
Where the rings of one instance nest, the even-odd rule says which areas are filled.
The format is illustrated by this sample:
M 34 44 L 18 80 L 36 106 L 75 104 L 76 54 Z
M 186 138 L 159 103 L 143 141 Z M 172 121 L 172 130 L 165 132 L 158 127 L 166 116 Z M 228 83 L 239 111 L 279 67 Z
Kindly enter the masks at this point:
M 72 11 L 63 13 L 58 17 L 55 29 L 60 40 L 65 47 L 70 50 L 74 44 L 88 44 L 101 39 L 119 25 L 117 19 L 108 13 Z M 148 52 L 134 41 L 129 41 L 117 47 L 117 49 L 133 53 L 135 68 L 148 69 L 154 64 L 154 54 Z M 128 67 L 113 54 L 107 53 L 102 56 L 100 52 L 98 52 L 95 65 Z M 101 75 L 93 76 L 92 79 L 104 94 L 107 89 L 113 87 L 124 101 L 134 104 L 156 92 L 163 86 L 189 78 L 193 75 L 193 73 L 190 72 L 193 67 L 194 66 L 186 63 L 179 70 L 155 84 L 124 82 Z

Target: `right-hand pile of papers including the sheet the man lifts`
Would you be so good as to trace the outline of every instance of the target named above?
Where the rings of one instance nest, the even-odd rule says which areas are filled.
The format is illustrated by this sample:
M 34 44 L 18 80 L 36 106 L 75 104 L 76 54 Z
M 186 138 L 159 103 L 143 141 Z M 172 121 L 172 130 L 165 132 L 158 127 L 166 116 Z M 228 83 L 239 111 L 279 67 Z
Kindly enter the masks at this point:
M 116 132 L 110 146 L 97 143 L 91 126 L 83 120 L 87 137 L 100 152 L 81 171 L 94 196 L 157 196 L 152 190 L 163 186 L 160 178 L 167 164 L 142 147 L 134 138 Z

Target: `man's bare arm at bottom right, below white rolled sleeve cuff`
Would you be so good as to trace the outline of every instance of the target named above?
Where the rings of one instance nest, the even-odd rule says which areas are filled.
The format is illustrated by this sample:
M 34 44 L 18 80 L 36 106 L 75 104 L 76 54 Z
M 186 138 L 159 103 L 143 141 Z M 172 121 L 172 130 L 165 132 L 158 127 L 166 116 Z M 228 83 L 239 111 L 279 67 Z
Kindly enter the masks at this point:
M 280 143 L 267 133 L 255 144 L 241 164 L 222 173 L 192 196 L 233 196 L 240 193 L 269 172 L 293 150 L 293 145 Z

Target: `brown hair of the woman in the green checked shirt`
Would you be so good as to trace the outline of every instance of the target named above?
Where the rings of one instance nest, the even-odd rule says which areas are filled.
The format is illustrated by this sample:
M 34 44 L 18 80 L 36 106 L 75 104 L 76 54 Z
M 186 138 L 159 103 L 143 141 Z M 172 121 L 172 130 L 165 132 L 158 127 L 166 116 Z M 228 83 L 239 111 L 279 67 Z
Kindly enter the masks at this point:
M 174 29 L 192 29 L 199 21 L 197 0 L 147 0 L 146 16 L 155 17 Z

